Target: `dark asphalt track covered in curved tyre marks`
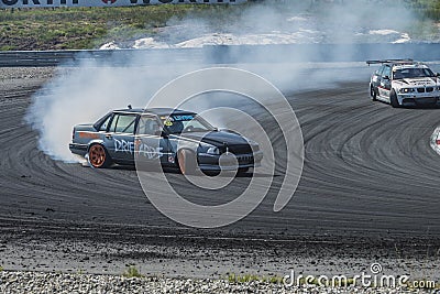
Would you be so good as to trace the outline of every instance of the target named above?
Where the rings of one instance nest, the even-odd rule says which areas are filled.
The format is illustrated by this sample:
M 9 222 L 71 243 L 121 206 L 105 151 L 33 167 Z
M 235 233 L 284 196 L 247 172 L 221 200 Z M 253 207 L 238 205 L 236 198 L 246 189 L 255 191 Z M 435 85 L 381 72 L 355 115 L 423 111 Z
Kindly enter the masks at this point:
M 190 236 L 207 242 L 219 237 L 307 238 L 346 244 L 355 240 L 440 241 L 440 156 L 430 148 L 440 109 L 394 109 L 372 102 L 364 80 L 288 95 L 306 153 L 294 198 L 274 213 L 270 195 L 243 220 L 202 230 L 161 215 L 144 196 L 133 168 L 92 170 L 41 152 L 37 134 L 23 117 L 42 83 L 22 79 L 0 89 L 3 237 L 32 230 L 42 240 L 45 233 L 94 240 L 107 232 L 107 240 L 132 238 L 133 242 L 142 233 L 150 241 L 160 236 Z M 274 149 L 279 145 L 275 142 Z M 167 176 L 189 198 L 194 196 L 180 174 Z M 239 192 L 248 181 L 238 178 L 230 188 Z M 221 203 L 217 196 L 199 200 Z M 185 246 L 194 240 L 179 242 Z

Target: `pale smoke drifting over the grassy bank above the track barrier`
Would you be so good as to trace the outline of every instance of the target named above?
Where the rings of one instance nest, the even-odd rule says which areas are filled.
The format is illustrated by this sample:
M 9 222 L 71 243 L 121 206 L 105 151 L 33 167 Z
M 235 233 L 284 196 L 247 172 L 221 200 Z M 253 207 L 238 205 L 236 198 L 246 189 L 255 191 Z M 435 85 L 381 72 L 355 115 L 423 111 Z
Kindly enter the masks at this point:
M 220 12 L 218 18 L 172 19 L 160 33 L 141 39 L 146 42 L 109 42 L 102 48 L 178 48 L 207 44 L 402 43 L 424 41 L 429 35 L 429 41 L 436 37 L 440 40 L 435 23 L 420 20 L 406 8 L 405 1 L 398 0 L 266 1 L 244 9 L 233 8 L 231 14 L 233 18 Z M 374 33 L 378 30 L 393 31 L 395 34 Z

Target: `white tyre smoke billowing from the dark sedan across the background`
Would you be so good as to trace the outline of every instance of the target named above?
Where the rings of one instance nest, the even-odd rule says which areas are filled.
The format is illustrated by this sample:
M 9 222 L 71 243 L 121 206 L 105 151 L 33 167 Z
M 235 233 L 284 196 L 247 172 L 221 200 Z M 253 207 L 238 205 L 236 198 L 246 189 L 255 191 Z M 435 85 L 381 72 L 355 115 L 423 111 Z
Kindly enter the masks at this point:
M 267 1 L 268 2 L 268 1 Z M 407 34 L 417 18 L 410 11 L 395 7 L 377 9 L 377 2 L 345 1 L 343 4 L 327 3 L 318 9 L 315 1 L 279 1 L 246 7 L 235 19 L 221 23 L 213 19 L 170 20 L 162 34 L 146 36 L 132 42 L 133 46 L 187 47 L 205 44 L 273 44 L 273 43 L 354 43 L 381 42 L 388 34 L 374 33 L 378 30 L 395 32 L 397 41 Z M 392 2 L 393 3 L 393 2 Z M 235 8 L 237 9 L 237 8 Z M 237 12 L 235 12 L 237 13 Z M 373 33 L 372 33 L 373 32 Z M 408 36 L 409 37 L 409 36 Z M 119 44 L 112 43 L 112 47 Z M 253 53 L 258 63 L 244 64 L 249 53 L 234 56 L 233 66 L 253 70 L 285 91 L 300 90 L 310 85 L 324 87 L 334 81 L 353 77 L 334 74 L 334 70 L 310 72 L 306 83 L 298 83 L 304 68 L 292 63 L 309 59 L 314 52 L 282 51 L 282 64 L 271 64 L 267 51 Z M 300 54 L 300 56 L 298 56 Z M 352 56 L 355 52 L 340 51 L 330 56 Z M 101 62 L 86 62 L 78 67 L 58 69 L 57 76 L 33 97 L 26 120 L 40 133 L 40 148 L 55 160 L 75 161 L 68 150 L 73 127 L 94 122 L 111 109 L 127 105 L 143 107 L 163 85 L 190 70 L 211 66 L 211 61 L 178 62 L 169 52 L 155 54 L 154 61 L 136 56 L 117 61 L 123 66 L 110 66 Z M 279 56 L 277 56 L 279 58 Z M 407 56 L 403 56 L 407 57 Z M 358 65 L 359 66 L 359 65 Z M 336 69 L 338 70 L 338 69 Z

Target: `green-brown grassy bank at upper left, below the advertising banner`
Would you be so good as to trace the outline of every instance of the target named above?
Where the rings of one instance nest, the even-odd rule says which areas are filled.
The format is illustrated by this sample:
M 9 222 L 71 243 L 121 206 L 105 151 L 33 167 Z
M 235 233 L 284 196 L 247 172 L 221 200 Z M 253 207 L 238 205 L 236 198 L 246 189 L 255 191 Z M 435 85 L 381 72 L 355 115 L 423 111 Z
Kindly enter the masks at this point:
M 151 36 L 184 18 L 223 19 L 234 6 L 162 4 L 122 8 L 0 10 L 0 50 L 82 50 Z M 233 13 L 231 14 L 231 17 Z

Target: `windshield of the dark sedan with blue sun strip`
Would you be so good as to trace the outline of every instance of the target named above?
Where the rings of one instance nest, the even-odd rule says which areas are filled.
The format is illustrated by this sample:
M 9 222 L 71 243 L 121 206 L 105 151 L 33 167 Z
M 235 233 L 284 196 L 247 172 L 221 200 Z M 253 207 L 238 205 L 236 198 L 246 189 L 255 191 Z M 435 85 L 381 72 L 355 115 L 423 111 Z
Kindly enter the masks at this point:
M 161 120 L 164 123 L 164 129 L 174 134 L 216 130 L 209 122 L 196 115 L 172 115 L 169 117 L 161 117 Z

